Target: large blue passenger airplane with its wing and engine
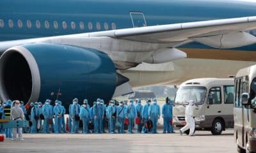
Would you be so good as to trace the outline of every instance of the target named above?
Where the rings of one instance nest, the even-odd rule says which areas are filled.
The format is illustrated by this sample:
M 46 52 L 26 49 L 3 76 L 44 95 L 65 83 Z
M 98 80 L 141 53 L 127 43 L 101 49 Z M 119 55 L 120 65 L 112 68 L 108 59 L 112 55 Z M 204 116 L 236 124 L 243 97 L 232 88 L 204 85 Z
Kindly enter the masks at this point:
M 256 64 L 256 3 L 0 1 L 0 101 L 105 101 Z

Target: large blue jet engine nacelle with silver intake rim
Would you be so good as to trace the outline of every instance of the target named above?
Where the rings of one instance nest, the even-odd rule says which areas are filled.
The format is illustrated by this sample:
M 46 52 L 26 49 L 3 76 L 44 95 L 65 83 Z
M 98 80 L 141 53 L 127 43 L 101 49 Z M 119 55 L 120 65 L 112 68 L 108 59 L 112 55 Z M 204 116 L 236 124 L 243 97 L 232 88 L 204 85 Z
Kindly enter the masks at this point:
M 78 98 L 90 104 L 112 98 L 118 77 L 108 55 L 92 48 L 35 43 L 12 47 L 0 57 L 1 101 Z M 91 105 L 92 106 L 92 105 Z

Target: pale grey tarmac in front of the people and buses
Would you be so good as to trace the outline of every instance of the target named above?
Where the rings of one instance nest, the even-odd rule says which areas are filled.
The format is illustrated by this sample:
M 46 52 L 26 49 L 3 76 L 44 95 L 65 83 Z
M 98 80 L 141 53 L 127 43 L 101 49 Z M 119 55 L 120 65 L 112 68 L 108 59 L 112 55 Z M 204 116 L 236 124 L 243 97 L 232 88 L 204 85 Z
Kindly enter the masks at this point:
M 136 132 L 134 130 L 134 132 Z M 8 152 L 196 152 L 234 153 L 233 129 L 213 136 L 210 131 L 196 131 L 195 136 L 174 134 L 24 134 L 24 142 L 6 138 L 0 153 Z

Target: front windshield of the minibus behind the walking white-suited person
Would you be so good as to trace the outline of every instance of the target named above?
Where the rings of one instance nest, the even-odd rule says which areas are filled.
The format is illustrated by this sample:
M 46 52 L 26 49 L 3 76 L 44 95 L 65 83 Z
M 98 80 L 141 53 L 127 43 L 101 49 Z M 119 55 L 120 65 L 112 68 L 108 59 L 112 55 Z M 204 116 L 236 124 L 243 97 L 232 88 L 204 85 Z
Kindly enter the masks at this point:
M 193 100 L 195 105 L 202 105 L 204 104 L 205 91 L 205 87 L 180 87 L 174 105 L 188 105 L 190 100 Z

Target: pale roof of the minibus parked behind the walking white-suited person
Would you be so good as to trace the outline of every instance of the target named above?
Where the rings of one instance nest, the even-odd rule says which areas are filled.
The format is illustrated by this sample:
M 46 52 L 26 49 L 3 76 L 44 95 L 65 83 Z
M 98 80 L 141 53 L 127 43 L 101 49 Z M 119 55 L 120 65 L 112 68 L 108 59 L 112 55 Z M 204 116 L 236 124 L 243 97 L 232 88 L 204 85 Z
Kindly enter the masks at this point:
M 183 82 L 180 87 L 186 86 L 214 86 L 214 85 L 234 85 L 234 78 L 195 78 Z

